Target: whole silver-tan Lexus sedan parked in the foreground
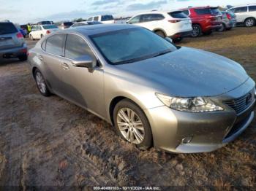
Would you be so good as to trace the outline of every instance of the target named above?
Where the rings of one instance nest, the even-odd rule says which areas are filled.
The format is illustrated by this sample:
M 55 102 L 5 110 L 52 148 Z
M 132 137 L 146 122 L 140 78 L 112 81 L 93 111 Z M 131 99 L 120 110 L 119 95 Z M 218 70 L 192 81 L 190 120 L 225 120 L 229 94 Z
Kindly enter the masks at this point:
M 238 63 L 139 26 L 56 31 L 30 50 L 29 62 L 42 95 L 87 109 L 140 149 L 211 152 L 255 115 L 255 82 Z

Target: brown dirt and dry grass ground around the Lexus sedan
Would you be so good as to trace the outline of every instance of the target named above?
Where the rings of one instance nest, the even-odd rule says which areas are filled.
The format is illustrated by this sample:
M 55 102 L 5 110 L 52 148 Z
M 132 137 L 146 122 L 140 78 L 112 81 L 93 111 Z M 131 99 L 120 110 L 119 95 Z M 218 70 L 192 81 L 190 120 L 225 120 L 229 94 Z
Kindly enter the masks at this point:
M 256 80 L 256 27 L 184 39 L 180 45 L 232 58 Z M 26 62 L 0 61 L 0 90 L 1 186 L 189 185 L 226 190 L 256 185 L 256 120 L 215 152 L 140 151 L 93 114 L 56 95 L 40 95 Z

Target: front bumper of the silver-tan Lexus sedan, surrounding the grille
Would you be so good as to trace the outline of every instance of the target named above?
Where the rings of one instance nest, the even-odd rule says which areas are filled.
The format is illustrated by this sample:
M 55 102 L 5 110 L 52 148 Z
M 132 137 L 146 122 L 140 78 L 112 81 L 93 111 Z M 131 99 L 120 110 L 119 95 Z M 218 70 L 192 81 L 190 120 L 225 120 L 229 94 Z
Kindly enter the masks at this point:
M 255 87 L 252 79 L 235 90 L 215 97 L 216 101 L 239 98 Z M 159 106 L 145 111 L 151 124 L 154 147 L 167 152 L 211 152 L 236 139 L 252 122 L 255 101 L 241 114 L 229 106 L 219 112 L 179 112 Z M 235 129 L 236 128 L 236 129 Z M 234 130 L 235 129 L 235 130 Z M 184 142 L 184 140 L 191 139 Z

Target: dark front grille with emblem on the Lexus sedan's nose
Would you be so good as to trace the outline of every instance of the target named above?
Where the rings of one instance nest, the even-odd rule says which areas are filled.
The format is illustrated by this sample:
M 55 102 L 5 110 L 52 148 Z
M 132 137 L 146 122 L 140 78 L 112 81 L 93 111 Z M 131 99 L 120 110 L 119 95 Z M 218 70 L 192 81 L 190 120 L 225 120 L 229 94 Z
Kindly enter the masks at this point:
M 224 101 L 223 103 L 232 107 L 236 111 L 236 114 L 241 114 L 254 101 L 255 101 L 255 95 L 251 91 L 251 92 L 247 93 L 246 95 L 241 96 L 240 98 L 236 98 L 234 100 L 229 100 L 229 101 Z

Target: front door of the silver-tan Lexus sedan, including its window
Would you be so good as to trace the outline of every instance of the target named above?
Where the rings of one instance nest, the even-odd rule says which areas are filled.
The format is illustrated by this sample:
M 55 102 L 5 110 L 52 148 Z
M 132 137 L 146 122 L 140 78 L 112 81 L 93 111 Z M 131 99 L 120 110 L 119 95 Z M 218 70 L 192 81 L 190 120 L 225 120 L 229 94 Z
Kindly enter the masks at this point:
M 94 71 L 72 64 L 73 60 L 85 55 L 93 59 Z M 91 112 L 104 116 L 103 69 L 97 66 L 97 58 L 83 37 L 67 34 L 65 61 L 62 64 L 62 80 L 66 98 Z

